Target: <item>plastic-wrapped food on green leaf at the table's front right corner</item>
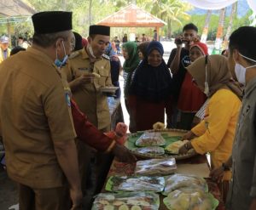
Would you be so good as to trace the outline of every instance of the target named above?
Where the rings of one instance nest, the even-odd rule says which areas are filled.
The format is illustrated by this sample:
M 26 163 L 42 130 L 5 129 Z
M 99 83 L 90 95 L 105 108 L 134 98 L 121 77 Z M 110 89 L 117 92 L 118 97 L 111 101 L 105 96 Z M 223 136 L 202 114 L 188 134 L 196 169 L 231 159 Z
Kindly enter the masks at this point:
M 211 193 L 188 188 L 172 191 L 164 198 L 164 203 L 170 210 L 214 210 L 218 207 L 218 200 Z

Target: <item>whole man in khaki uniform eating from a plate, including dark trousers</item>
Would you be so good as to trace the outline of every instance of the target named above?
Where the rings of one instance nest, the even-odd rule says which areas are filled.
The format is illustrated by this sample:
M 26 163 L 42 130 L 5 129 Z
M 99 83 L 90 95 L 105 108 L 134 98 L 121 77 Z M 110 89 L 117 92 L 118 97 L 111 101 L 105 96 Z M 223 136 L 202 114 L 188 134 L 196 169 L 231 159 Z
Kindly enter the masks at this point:
M 64 68 L 73 99 L 79 105 L 79 109 L 88 116 L 88 120 L 102 132 L 110 129 L 107 95 L 99 89 L 112 86 L 110 60 L 107 55 L 103 55 L 109 43 L 109 34 L 110 28 L 108 26 L 90 26 L 88 45 L 74 52 L 67 60 L 67 65 Z M 99 76 L 96 77 L 92 73 Z M 78 143 L 78 150 L 82 190 L 84 194 L 88 194 L 87 190 L 90 187 L 88 183 L 92 182 L 89 173 L 94 171 L 90 167 L 90 160 L 95 154 L 90 147 L 80 142 Z M 102 182 L 111 162 L 109 157 L 109 155 L 100 156 L 98 154 L 96 158 L 96 185 L 92 184 L 93 190 L 97 188 L 98 191 L 102 187 Z M 90 180 L 88 181 L 88 179 Z

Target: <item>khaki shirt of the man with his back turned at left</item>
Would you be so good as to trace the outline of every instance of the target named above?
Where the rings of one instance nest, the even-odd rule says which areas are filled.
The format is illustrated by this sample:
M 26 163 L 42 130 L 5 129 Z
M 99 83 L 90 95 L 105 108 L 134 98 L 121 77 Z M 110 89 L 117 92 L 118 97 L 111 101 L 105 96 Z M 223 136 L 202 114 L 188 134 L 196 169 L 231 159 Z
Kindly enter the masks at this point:
M 61 186 L 55 141 L 75 138 L 70 89 L 49 57 L 28 48 L 0 65 L 0 128 L 9 177 L 32 188 Z

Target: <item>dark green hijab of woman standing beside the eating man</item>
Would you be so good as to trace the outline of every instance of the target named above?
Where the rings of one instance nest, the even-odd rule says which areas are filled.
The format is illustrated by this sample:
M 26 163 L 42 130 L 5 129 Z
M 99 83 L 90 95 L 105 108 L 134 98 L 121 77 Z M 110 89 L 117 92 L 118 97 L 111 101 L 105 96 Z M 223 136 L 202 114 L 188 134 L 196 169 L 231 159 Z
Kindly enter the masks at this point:
M 130 73 L 137 68 L 140 60 L 137 54 L 137 43 L 128 42 L 123 44 L 123 48 L 127 50 L 128 60 L 125 60 L 123 69 L 125 72 Z

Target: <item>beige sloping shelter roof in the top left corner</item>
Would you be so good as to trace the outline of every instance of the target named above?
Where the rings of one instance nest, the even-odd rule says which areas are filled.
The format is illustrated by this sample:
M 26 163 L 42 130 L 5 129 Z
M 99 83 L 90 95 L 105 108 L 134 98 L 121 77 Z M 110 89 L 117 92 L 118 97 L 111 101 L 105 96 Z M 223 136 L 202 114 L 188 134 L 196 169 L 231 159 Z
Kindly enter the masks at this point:
M 21 0 L 0 0 L 0 14 L 5 17 L 30 16 L 34 13 L 36 11 Z

